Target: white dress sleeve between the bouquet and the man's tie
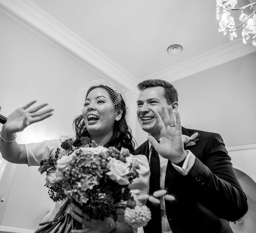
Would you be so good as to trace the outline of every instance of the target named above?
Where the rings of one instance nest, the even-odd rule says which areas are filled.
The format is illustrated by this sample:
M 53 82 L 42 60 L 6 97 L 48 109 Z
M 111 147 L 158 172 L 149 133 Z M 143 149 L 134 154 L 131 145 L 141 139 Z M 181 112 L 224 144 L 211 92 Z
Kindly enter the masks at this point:
M 130 162 L 133 159 L 137 159 L 140 165 L 140 169 L 138 170 L 140 176 L 135 178 L 133 182 L 130 184 L 131 193 L 134 199 L 141 204 L 146 204 L 138 201 L 138 196 L 141 194 L 149 193 L 149 177 L 150 177 L 150 169 L 148 164 L 148 159 L 145 155 L 131 155 L 126 158 L 127 162 Z

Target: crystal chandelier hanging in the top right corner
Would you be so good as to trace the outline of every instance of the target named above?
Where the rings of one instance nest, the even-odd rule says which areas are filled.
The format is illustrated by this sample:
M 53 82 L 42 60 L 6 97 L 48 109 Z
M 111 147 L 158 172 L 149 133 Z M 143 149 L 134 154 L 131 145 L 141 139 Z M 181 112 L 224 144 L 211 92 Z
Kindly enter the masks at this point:
M 253 10 L 253 6 L 256 2 L 248 4 L 240 8 L 234 8 L 237 4 L 237 0 L 216 0 L 216 18 L 219 21 L 219 32 L 223 32 L 224 35 L 229 31 L 229 38 L 232 41 L 234 37 L 237 37 L 236 29 L 241 25 L 244 27 L 242 30 L 243 43 L 246 44 L 247 41 L 252 37 L 252 45 L 256 47 L 256 11 Z M 244 12 L 244 9 L 250 7 L 251 13 L 248 15 Z M 220 11 L 222 9 L 222 15 Z M 232 11 L 241 10 L 241 15 L 239 17 L 240 24 L 235 26 L 234 18 L 231 16 Z

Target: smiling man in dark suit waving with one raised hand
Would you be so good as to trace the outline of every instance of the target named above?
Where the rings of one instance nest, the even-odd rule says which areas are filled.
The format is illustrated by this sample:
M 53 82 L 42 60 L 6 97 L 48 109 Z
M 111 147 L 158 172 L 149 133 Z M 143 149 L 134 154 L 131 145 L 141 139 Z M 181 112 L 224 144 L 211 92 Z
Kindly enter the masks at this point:
M 146 80 L 137 87 L 137 117 L 149 136 L 135 154 L 149 159 L 150 194 L 166 189 L 176 199 L 147 203 L 152 219 L 144 232 L 232 232 L 228 221 L 241 218 L 248 206 L 221 136 L 181 126 L 178 94 L 170 83 Z M 182 134 L 194 136 L 187 143 Z

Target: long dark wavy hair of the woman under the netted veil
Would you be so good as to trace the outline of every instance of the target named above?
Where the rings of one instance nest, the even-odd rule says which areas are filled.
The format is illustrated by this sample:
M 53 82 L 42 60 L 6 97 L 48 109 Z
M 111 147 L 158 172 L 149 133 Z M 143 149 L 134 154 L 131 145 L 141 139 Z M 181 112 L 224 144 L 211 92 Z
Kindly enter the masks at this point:
M 119 150 L 122 147 L 124 147 L 124 148 L 129 149 L 130 153 L 134 154 L 135 143 L 134 143 L 133 138 L 132 138 L 131 128 L 127 125 L 127 122 L 126 122 L 127 109 L 126 109 L 126 105 L 125 105 L 125 102 L 124 102 L 121 94 L 117 91 L 114 91 L 109 86 L 98 85 L 98 86 L 92 86 L 87 91 L 86 97 L 95 88 L 105 89 L 108 92 L 109 97 L 110 97 L 110 99 L 113 103 L 116 103 L 115 100 L 118 98 L 117 95 L 120 95 L 119 96 L 119 98 L 121 97 L 120 103 L 118 102 L 117 104 L 114 104 L 113 108 L 114 108 L 115 111 L 118 111 L 119 109 L 123 110 L 123 113 L 122 113 L 122 116 L 121 116 L 120 120 L 118 120 L 118 121 L 115 120 L 115 122 L 114 122 L 114 129 L 113 129 L 112 137 L 103 146 L 105 146 L 105 147 L 114 146 Z M 76 133 L 75 142 L 80 141 L 81 137 L 85 137 L 85 136 L 90 137 L 90 134 L 86 129 L 86 126 L 85 126 L 84 119 L 83 119 L 82 115 L 79 115 L 74 119 L 73 129 Z

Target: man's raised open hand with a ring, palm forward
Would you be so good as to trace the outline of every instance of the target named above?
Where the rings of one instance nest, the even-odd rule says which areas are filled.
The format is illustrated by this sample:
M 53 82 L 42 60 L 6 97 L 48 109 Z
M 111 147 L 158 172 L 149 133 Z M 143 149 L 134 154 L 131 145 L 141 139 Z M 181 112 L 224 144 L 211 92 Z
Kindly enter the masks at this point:
M 187 153 L 184 150 L 179 113 L 177 111 L 175 113 L 175 122 L 175 116 L 170 105 L 163 106 L 160 112 L 153 112 L 162 138 L 158 143 L 153 136 L 149 135 L 148 140 L 162 157 L 173 163 L 181 162 L 186 158 Z

